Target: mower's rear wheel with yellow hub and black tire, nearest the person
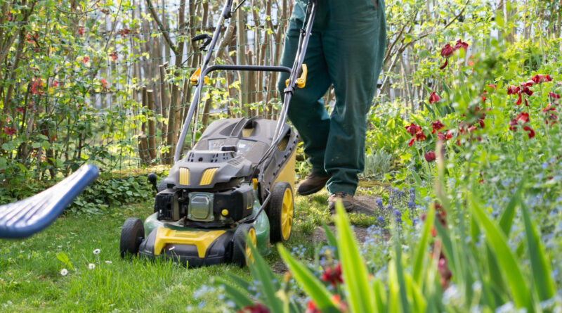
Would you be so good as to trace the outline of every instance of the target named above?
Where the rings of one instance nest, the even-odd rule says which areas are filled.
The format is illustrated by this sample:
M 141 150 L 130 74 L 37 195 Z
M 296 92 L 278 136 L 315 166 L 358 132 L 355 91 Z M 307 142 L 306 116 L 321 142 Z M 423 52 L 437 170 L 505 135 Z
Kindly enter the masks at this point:
M 288 241 L 293 228 L 294 198 L 291 185 L 279 181 L 273 186 L 271 200 L 266 207 L 270 225 L 270 241 Z

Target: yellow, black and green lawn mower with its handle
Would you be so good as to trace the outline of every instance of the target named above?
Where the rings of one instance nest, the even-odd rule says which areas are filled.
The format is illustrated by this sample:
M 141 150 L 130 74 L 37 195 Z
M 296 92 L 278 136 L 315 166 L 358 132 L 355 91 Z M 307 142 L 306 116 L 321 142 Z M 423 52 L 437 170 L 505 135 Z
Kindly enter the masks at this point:
M 126 219 L 119 242 L 122 257 L 161 257 L 188 266 L 224 262 L 244 266 L 254 260 L 249 244 L 266 255 L 270 243 L 287 241 L 291 236 L 297 134 L 286 123 L 287 110 L 295 88 L 306 84 L 303 60 L 317 1 L 309 1 L 308 19 L 303 23 L 292 68 L 209 66 L 224 21 L 241 4 L 233 8 L 233 0 L 227 0 L 213 36 L 200 34 L 192 38 L 204 40 L 202 50 L 210 46 L 201 67 L 190 77 L 196 89 L 178 139 L 174 165 L 158 186 L 156 176 L 149 175 L 157 189 L 154 213 L 144 222 Z M 214 70 L 289 73 L 279 119 L 216 120 L 194 145 L 198 120 L 195 112 L 199 111 L 206 75 Z M 192 120 L 192 149 L 181 155 Z

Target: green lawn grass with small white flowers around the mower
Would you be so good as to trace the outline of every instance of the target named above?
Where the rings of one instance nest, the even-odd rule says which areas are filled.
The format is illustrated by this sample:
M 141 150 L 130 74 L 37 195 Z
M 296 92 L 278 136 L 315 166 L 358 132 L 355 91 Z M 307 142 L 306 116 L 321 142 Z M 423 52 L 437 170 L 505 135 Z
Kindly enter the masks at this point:
M 311 234 L 321 222 L 332 224 L 327 192 L 296 197 L 295 224 L 287 248 L 302 245 L 310 259 L 316 248 Z M 173 262 L 119 257 L 119 234 L 127 217 L 147 217 L 152 200 L 113 208 L 104 215 L 65 215 L 41 233 L 20 241 L 0 241 L 0 312 L 108 312 L 120 311 L 209 312 L 218 305 L 217 293 L 202 299 L 194 293 L 211 278 L 225 272 L 249 278 L 247 269 L 231 264 L 186 268 Z M 93 250 L 100 249 L 95 255 Z M 64 253 L 70 266 L 58 260 Z M 278 269 L 275 250 L 266 257 Z M 89 269 L 89 264 L 95 264 Z M 66 276 L 60 270 L 66 268 Z

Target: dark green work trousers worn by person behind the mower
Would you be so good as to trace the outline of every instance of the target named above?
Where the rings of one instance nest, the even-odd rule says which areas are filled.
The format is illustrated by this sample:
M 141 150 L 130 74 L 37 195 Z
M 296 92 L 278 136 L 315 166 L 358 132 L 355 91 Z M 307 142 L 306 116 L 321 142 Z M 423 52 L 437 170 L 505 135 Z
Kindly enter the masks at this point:
M 313 172 L 331 176 L 329 193 L 355 194 L 365 167 L 367 113 L 381 71 L 386 41 L 384 0 L 318 1 L 304 63 L 306 87 L 296 89 L 289 106 Z M 281 64 L 292 67 L 306 0 L 297 0 L 285 35 Z M 283 94 L 288 74 L 280 75 Z M 322 96 L 334 85 L 336 103 L 328 115 Z

